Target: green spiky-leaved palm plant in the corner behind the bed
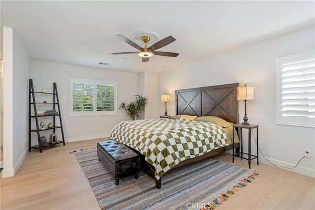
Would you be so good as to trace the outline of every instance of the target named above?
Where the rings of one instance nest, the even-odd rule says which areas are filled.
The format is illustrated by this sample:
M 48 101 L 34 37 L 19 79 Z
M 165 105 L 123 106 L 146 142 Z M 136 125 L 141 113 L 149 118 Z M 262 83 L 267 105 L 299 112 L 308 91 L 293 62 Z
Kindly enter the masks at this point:
M 119 109 L 125 110 L 131 120 L 136 120 L 145 111 L 145 107 L 147 104 L 148 104 L 148 98 L 143 95 L 137 94 L 135 95 L 135 101 L 131 101 L 128 104 L 126 104 L 126 102 L 123 101 L 120 104 Z

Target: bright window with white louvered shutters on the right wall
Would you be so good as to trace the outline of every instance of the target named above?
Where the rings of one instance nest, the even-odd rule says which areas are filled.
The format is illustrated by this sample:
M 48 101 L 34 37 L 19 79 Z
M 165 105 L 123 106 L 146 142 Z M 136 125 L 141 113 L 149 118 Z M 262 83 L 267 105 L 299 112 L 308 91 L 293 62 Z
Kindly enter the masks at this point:
M 315 127 L 315 52 L 277 59 L 276 123 Z

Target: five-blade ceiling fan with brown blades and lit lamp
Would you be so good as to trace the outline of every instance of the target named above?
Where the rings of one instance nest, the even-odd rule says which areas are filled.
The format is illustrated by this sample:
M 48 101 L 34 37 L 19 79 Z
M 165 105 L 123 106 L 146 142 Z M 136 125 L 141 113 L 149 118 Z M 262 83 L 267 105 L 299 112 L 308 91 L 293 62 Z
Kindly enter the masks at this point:
M 168 57 L 177 57 L 179 53 L 170 53 L 170 52 L 160 52 L 160 51 L 155 51 L 158 50 L 159 48 L 162 48 L 176 39 L 173 36 L 167 36 L 166 38 L 163 38 L 159 40 L 157 43 L 151 45 L 151 47 L 147 47 L 147 43 L 150 41 L 150 36 L 142 36 L 142 41 L 144 42 L 144 47 L 140 47 L 130 39 L 126 38 L 125 36 L 121 34 L 116 34 L 118 38 L 126 42 L 127 44 L 131 45 L 134 48 L 137 48 L 140 50 L 140 52 L 123 52 L 123 53 L 112 53 L 112 55 L 121 55 L 121 54 L 133 54 L 137 53 L 138 56 L 142 57 L 142 62 L 147 62 L 149 61 L 149 58 L 157 55 L 157 56 L 168 56 Z

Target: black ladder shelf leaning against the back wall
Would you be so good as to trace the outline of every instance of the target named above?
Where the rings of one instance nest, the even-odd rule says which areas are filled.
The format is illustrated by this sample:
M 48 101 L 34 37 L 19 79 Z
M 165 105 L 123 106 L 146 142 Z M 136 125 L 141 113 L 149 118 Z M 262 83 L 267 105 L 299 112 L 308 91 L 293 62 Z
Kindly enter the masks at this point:
M 61 144 L 63 143 L 63 145 L 65 145 L 64 143 L 64 135 L 63 135 L 63 123 L 62 123 L 62 120 L 61 120 L 61 112 L 60 112 L 60 104 L 59 104 L 59 99 L 58 99 L 58 91 L 57 91 L 57 85 L 56 83 L 54 83 L 54 87 L 53 87 L 53 92 L 36 92 L 34 91 L 34 87 L 33 87 L 33 80 L 30 79 L 30 85 L 29 85 L 29 151 L 31 151 L 31 149 L 37 149 L 39 150 L 40 152 L 42 152 L 42 149 L 44 148 L 49 148 L 51 146 L 54 146 L 54 145 L 57 145 L 57 144 Z M 51 103 L 46 103 L 46 102 L 36 102 L 35 101 L 35 93 L 38 93 L 38 94 L 51 94 L 53 95 L 53 102 Z M 56 102 L 57 101 L 57 102 Z M 56 110 L 56 105 L 58 107 L 58 114 L 56 115 L 47 115 L 47 116 L 38 116 L 37 115 L 37 109 L 36 109 L 36 104 L 47 104 L 47 105 L 53 105 L 53 110 Z M 33 111 L 34 111 L 34 115 L 32 115 L 32 105 L 33 105 Z M 60 120 L 60 126 L 56 126 L 56 116 L 59 116 L 59 120 Z M 51 128 L 45 128 L 45 129 L 41 129 L 39 127 L 39 123 L 38 123 L 38 118 L 41 118 L 41 117 L 53 117 L 53 127 Z M 32 119 L 35 119 L 36 121 L 36 129 L 32 129 Z M 63 137 L 63 140 L 57 140 L 55 142 L 46 142 L 45 146 L 44 145 L 41 145 L 41 142 L 40 142 L 40 132 L 41 131 L 44 131 L 44 130 L 53 130 L 53 133 L 56 133 L 56 129 L 57 128 L 60 128 L 61 129 L 61 134 L 62 134 L 62 137 Z M 38 145 L 35 145 L 35 146 L 31 146 L 31 133 L 32 132 L 36 132 L 37 133 L 37 138 L 38 138 Z

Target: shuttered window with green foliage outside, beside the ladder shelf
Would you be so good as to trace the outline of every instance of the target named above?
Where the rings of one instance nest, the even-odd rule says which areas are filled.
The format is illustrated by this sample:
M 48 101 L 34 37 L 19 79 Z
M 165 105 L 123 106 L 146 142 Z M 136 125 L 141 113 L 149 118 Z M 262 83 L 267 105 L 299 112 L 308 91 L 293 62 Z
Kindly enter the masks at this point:
M 117 83 L 70 78 L 70 116 L 117 115 Z

